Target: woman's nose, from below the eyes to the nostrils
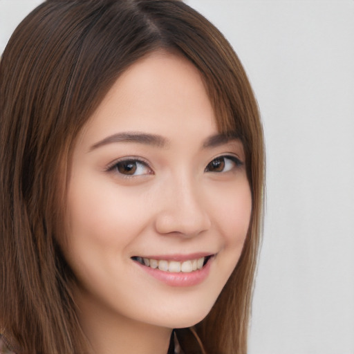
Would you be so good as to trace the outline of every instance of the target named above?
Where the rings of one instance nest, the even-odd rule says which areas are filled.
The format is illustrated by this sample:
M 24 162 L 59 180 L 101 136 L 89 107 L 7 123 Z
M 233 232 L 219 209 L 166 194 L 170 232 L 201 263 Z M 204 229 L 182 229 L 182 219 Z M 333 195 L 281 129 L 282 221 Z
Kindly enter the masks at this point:
M 156 230 L 160 234 L 192 237 L 211 226 L 202 188 L 186 179 L 168 183 L 160 193 L 161 206 L 156 216 Z

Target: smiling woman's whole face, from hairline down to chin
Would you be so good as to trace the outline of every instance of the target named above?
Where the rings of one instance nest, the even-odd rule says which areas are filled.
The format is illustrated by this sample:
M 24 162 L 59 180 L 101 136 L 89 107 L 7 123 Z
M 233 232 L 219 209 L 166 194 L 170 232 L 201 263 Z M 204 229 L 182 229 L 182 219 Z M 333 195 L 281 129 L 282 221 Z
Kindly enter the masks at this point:
M 73 151 L 64 254 L 77 297 L 122 321 L 196 324 L 239 260 L 251 208 L 243 146 L 219 135 L 198 70 L 140 59 Z

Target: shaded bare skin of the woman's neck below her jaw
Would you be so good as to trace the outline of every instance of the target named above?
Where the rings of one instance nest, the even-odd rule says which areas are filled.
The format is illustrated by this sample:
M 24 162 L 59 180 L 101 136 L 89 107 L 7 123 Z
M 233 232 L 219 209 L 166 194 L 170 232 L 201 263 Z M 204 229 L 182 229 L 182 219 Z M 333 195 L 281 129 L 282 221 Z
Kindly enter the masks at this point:
M 85 299 L 80 299 L 78 305 L 90 354 L 167 354 L 171 328 L 129 319 Z

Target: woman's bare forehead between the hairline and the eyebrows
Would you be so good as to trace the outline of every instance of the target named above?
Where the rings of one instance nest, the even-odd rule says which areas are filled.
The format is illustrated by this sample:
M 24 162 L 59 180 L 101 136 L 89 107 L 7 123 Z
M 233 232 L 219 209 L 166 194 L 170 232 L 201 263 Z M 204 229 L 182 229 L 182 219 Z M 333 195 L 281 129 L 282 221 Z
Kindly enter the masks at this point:
M 180 129 L 205 136 L 216 133 L 214 110 L 198 69 L 181 55 L 158 52 L 122 73 L 84 131 L 97 139 L 118 131 L 173 139 Z

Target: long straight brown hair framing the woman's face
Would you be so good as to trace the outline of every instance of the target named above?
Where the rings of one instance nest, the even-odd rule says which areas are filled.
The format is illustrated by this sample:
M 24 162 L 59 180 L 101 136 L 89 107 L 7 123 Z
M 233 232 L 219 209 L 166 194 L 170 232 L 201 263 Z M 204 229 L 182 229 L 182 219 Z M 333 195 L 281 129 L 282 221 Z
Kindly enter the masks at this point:
M 55 241 L 65 237 L 71 148 L 120 74 L 159 49 L 178 51 L 198 68 L 218 129 L 236 132 L 243 142 L 252 190 L 248 236 L 232 276 L 192 337 L 209 354 L 246 353 L 263 205 L 259 112 L 230 44 L 178 0 L 48 0 L 22 21 L 3 53 L 0 331 L 21 353 L 86 351 L 73 274 Z M 187 354 L 196 353 L 187 332 L 176 335 Z

